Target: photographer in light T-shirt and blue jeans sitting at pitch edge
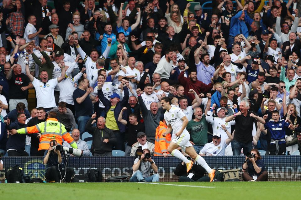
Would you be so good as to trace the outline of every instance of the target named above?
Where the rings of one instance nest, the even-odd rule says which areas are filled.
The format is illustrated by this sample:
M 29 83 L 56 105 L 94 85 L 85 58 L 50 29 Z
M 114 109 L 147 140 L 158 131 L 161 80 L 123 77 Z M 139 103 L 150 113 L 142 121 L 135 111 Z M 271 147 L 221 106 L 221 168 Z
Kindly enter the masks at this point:
M 150 150 L 144 149 L 140 158 L 136 158 L 133 165 L 133 175 L 130 182 L 158 182 L 159 174 L 150 176 L 150 168 L 155 173 L 158 171 L 155 161 L 150 157 Z

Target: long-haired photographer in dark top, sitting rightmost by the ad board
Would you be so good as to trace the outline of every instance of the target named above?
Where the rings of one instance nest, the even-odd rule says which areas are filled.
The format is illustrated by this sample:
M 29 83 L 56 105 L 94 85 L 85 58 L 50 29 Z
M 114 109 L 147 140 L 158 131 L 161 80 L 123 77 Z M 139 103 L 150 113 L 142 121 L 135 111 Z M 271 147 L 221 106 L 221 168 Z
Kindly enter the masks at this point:
M 249 168 L 249 173 L 246 172 Z M 265 164 L 261 160 L 260 153 L 257 149 L 252 149 L 246 154 L 246 161 L 242 165 L 242 177 L 244 181 L 267 181 L 268 173 L 264 171 Z

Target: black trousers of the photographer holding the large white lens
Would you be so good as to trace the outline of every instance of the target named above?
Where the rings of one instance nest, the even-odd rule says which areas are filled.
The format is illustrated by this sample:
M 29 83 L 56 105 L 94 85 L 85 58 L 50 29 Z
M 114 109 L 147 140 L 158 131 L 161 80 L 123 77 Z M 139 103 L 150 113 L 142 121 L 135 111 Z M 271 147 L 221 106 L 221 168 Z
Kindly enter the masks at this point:
M 70 183 L 72 176 L 75 174 L 74 169 L 71 167 L 67 167 L 65 171 L 65 170 L 58 169 L 57 166 L 52 166 L 46 169 L 45 178 L 47 179 L 47 181 L 53 180 L 59 183 L 61 179 L 63 179 L 63 177 L 65 176 L 65 173 L 66 173 L 65 182 Z

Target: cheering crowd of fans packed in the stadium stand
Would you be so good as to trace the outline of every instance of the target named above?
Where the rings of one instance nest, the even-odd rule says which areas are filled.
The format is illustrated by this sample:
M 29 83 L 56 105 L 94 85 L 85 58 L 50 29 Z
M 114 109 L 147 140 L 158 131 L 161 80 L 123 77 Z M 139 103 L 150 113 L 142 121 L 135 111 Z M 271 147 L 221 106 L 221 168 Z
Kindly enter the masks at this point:
M 185 113 L 200 155 L 298 150 L 300 0 L 213 0 L 212 13 L 189 2 L 3 0 L 0 153 L 39 155 L 41 134 L 8 130 L 53 111 L 84 155 L 166 157 L 175 136 L 161 135 L 163 97 Z

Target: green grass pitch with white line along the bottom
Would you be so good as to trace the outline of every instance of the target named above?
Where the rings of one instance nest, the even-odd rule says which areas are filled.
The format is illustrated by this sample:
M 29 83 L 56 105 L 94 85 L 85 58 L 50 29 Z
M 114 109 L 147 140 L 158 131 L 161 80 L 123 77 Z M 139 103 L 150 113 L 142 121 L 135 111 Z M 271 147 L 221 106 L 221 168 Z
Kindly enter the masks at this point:
M 8 183 L 1 200 L 299 199 L 301 182 Z

